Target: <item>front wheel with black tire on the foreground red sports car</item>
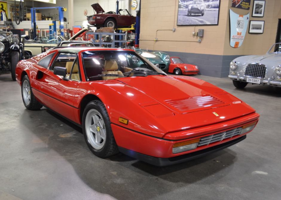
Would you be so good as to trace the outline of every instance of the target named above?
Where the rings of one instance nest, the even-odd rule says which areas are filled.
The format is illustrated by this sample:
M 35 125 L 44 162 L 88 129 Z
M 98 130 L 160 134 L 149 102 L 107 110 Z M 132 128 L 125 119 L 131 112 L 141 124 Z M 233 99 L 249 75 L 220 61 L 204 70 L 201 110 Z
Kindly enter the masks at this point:
M 88 148 L 98 157 L 119 152 L 110 124 L 108 113 L 101 101 L 94 100 L 86 105 L 82 118 L 83 134 Z

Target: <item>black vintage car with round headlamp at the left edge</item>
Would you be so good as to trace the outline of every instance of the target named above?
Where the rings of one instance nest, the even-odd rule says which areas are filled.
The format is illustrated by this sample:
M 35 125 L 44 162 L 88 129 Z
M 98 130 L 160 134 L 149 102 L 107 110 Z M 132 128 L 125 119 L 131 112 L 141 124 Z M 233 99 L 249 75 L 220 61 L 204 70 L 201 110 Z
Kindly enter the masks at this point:
M 16 65 L 19 60 L 24 59 L 23 55 L 23 45 L 19 36 L 0 29 L 0 68 L 10 69 L 13 81 L 16 81 Z

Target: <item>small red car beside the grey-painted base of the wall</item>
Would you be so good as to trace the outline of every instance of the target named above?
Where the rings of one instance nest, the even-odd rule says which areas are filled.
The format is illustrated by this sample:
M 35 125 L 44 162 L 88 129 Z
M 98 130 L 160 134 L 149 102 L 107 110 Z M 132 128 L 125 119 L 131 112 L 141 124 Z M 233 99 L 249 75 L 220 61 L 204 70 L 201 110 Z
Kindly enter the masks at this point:
M 199 69 L 196 65 L 184 63 L 179 57 L 171 57 L 171 64 L 169 66 L 169 73 L 175 75 L 198 74 Z

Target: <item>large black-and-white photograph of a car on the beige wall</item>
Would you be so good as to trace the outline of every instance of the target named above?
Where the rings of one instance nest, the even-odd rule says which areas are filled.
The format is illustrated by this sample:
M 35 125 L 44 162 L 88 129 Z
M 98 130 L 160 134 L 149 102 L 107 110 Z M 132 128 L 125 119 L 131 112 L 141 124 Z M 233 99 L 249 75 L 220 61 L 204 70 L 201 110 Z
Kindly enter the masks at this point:
M 177 25 L 218 25 L 221 0 L 178 0 Z

